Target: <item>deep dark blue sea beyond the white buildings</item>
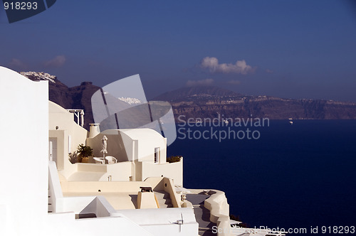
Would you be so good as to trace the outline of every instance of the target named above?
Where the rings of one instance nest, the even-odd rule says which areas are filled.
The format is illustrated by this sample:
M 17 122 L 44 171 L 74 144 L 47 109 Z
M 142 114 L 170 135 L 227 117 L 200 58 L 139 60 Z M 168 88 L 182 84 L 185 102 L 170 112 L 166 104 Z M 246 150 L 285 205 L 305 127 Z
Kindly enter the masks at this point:
M 303 235 L 315 235 L 310 228 L 318 227 L 319 235 L 331 235 L 337 226 L 334 232 L 345 234 L 342 227 L 356 226 L 356 120 L 293 122 L 177 125 L 180 134 L 167 155 L 184 157 L 185 188 L 224 191 L 230 213 L 249 227 L 305 228 Z M 224 135 L 247 128 L 259 138 L 208 137 L 216 130 Z M 209 139 L 199 138 L 204 131 Z M 199 139 L 189 139 L 188 132 Z

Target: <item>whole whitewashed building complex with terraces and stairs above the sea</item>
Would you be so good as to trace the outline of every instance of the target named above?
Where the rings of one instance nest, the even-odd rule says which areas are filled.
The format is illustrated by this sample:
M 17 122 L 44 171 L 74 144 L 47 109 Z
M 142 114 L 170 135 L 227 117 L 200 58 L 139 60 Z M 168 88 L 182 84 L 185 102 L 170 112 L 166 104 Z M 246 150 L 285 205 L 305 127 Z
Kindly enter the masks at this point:
M 73 113 L 48 103 L 47 81 L 4 67 L 0 96 L 0 235 L 198 235 L 195 209 L 176 188 L 182 187 L 182 160 L 167 163 L 167 140 L 160 134 L 89 134 Z M 104 135 L 117 163 L 70 163 L 68 154 L 79 144 L 102 156 Z M 224 192 L 210 194 L 203 206 L 211 222 L 229 229 Z

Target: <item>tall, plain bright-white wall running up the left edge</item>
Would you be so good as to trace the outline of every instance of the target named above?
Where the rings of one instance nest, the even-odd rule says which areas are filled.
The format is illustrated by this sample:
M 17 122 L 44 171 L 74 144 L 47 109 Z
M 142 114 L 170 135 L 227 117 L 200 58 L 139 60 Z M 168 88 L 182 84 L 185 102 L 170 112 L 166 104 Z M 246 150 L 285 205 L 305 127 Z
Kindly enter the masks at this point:
M 43 235 L 48 215 L 48 82 L 33 82 L 0 67 L 0 102 L 0 235 Z

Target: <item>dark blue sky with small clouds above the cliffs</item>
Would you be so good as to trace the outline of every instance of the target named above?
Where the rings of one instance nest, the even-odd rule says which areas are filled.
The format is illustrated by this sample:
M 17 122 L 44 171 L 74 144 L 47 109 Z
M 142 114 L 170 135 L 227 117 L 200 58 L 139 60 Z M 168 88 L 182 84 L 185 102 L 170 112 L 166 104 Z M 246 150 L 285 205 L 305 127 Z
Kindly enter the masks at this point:
M 352 1 L 58 0 L 17 23 L 4 14 L 0 65 L 45 71 L 68 86 L 139 73 L 147 97 L 212 84 L 356 102 Z

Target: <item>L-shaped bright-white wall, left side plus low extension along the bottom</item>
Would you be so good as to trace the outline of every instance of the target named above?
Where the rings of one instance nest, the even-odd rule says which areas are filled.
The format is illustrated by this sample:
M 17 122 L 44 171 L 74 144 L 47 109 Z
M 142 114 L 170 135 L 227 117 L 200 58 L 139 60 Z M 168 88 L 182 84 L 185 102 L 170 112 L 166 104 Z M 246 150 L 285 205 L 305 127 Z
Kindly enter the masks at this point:
M 48 82 L 0 67 L 0 235 L 152 235 L 122 218 L 48 214 Z

